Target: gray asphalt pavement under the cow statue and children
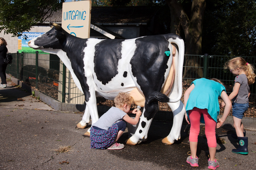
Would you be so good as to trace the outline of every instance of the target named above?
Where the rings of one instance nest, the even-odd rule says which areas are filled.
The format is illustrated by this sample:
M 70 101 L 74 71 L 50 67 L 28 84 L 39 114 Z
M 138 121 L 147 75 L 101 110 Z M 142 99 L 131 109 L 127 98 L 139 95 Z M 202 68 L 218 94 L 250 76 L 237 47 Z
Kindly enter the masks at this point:
M 8 82 L 0 88 L 0 170 L 3 169 L 208 169 L 208 147 L 201 125 L 198 137 L 199 167 L 186 163 L 190 153 L 189 125 L 184 123 L 181 139 L 173 145 L 161 140 L 172 127 L 171 121 L 152 121 L 148 140 L 121 150 L 90 149 L 88 130 L 76 129 L 83 113 L 60 112 Z M 255 169 L 256 130 L 248 129 L 248 155 L 232 153 L 238 146 L 231 137 L 232 126 L 216 129 L 216 159 L 220 169 Z M 128 138 L 127 128 L 119 139 Z M 54 149 L 70 146 L 68 152 Z

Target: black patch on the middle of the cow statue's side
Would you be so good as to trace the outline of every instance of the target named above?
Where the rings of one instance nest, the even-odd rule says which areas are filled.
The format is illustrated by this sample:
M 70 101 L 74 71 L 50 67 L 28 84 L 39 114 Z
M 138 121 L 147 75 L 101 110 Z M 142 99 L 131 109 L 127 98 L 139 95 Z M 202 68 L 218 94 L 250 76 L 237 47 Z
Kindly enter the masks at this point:
M 118 74 L 118 61 L 122 58 L 122 42 L 124 40 L 103 40 L 95 45 L 94 72 L 97 79 L 106 85 Z

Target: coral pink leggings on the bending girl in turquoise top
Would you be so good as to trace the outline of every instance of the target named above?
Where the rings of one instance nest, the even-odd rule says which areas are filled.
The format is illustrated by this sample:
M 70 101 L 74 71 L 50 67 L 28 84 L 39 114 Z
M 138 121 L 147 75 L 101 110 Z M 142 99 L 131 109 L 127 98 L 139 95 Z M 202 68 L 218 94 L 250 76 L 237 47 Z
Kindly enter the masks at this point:
M 212 117 L 207 112 L 207 109 L 198 109 L 194 107 L 192 110 L 189 110 L 189 120 L 190 120 L 190 133 L 189 133 L 189 141 L 197 142 L 198 135 L 200 132 L 200 117 L 201 114 L 204 116 L 205 120 L 205 135 L 207 138 L 208 147 L 215 148 L 217 147 L 216 142 L 216 122 L 212 119 Z

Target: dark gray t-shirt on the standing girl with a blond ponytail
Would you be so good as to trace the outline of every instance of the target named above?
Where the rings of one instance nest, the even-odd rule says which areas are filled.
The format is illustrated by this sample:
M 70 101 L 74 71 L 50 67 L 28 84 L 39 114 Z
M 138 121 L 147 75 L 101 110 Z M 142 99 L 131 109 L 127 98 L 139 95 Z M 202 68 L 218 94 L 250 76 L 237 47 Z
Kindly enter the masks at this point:
M 235 83 L 240 83 L 240 88 L 237 96 L 232 100 L 235 103 L 248 103 L 248 93 L 250 91 L 250 87 L 248 85 L 248 79 L 245 74 L 240 74 L 236 76 Z

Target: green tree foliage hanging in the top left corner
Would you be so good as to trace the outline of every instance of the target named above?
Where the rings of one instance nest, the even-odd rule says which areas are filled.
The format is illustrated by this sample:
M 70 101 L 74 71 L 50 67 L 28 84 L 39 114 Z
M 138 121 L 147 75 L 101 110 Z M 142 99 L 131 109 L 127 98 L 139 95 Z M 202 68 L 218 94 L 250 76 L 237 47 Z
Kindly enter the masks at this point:
M 0 31 L 19 36 L 62 8 L 65 0 L 0 0 Z

